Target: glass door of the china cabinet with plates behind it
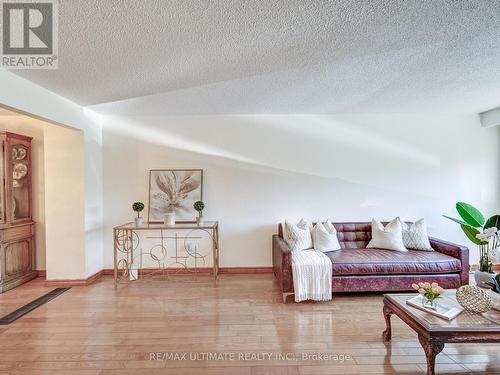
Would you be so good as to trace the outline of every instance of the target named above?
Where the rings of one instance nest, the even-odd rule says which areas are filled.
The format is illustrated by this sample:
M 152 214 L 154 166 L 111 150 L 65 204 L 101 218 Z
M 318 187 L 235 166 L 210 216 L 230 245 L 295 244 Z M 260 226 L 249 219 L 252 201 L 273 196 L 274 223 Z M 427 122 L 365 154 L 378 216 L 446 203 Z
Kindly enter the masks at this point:
M 30 218 L 29 149 L 22 144 L 11 147 L 12 220 Z

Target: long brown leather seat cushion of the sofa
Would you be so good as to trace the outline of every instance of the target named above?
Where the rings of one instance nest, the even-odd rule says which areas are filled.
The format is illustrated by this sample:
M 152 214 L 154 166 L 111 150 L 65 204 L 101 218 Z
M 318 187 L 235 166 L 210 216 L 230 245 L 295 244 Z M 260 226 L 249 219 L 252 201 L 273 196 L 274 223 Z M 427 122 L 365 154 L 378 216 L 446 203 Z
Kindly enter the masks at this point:
M 432 274 L 462 269 L 459 259 L 437 251 L 341 249 L 325 255 L 333 263 L 333 275 Z

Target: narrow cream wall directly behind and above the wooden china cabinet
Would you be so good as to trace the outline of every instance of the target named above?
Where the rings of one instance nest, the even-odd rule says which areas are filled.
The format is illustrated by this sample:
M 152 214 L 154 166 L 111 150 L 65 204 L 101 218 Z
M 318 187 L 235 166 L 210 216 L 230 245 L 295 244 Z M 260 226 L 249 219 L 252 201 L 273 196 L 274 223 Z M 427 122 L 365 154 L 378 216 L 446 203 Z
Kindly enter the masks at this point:
M 45 270 L 44 124 L 43 121 L 26 116 L 0 116 L 0 131 L 10 131 L 33 137 L 31 160 L 37 270 Z

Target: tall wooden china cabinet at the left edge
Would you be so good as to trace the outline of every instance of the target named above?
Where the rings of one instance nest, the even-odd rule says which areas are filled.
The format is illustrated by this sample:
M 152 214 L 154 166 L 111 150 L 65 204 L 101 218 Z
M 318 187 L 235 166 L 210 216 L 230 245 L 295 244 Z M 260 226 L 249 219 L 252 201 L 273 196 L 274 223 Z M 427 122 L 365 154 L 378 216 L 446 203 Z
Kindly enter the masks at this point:
M 37 276 L 31 137 L 0 132 L 0 293 Z

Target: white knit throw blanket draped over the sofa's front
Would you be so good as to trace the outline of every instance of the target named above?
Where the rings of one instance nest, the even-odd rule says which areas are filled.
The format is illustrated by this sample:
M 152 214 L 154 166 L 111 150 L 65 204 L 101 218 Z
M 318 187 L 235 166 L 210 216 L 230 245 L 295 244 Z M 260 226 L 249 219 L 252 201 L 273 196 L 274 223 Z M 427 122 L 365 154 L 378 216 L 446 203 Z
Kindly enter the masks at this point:
M 332 299 L 332 261 L 321 251 L 293 252 L 292 274 L 295 302 Z

